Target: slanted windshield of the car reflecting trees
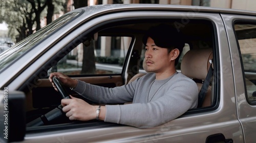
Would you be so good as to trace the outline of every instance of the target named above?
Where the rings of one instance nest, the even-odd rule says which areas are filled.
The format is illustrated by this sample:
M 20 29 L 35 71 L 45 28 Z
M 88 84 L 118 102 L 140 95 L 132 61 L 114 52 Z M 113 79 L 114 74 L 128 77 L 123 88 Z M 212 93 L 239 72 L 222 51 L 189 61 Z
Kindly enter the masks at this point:
M 54 20 L 49 25 L 41 28 L 36 33 L 30 35 L 26 39 L 15 44 L 13 47 L 4 51 L 0 54 L 0 71 L 6 66 L 18 59 L 23 53 L 31 49 L 35 44 L 39 43 L 42 39 L 55 32 L 57 28 L 70 21 L 72 18 L 77 16 L 79 13 L 74 12 L 63 15 L 58 19 Z

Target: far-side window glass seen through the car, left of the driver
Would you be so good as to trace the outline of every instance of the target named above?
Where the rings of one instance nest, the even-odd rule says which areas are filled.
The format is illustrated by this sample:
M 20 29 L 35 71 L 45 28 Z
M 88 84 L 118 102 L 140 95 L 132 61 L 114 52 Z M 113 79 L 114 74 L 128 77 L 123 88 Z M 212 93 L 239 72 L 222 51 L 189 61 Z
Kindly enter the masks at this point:
M 131 37 L 99 36 L 79 44 L 49 72 L 66 75 L 121 74 Z

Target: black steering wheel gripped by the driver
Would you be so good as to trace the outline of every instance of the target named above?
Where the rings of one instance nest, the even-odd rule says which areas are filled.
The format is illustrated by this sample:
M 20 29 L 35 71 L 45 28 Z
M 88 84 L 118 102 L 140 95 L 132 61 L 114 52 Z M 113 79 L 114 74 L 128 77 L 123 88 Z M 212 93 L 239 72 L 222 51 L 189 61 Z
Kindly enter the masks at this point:
M 69 93 L 63 88 L 62 83 L 60 80 L 56 77 L 52 78 L 56 88 L 58 89 L 61 97 L 64 98 L 70 98 Z M 34 127 L 34 126 L 42 126 L 42 125 L 48 125 L 53 121 L 56 121 L 59 118 L 67 118 L 66 113 L 62 111 L 62 105 L 59 105 L 55 109 L 47 112 L 45 115 L 42 115 L 41 117 L 27 123 L 27 127 Z

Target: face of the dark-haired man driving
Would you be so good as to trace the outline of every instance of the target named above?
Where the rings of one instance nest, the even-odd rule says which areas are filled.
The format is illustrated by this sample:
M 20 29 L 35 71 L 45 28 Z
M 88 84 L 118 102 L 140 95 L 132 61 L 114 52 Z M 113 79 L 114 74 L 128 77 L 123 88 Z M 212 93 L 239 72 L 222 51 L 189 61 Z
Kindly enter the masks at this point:
M 167 48 L 158 47 L 154 40 L 147 38 L 145 46 L 145 63 L 147 72 L 164 72 L 170 66 L 170 55 Z

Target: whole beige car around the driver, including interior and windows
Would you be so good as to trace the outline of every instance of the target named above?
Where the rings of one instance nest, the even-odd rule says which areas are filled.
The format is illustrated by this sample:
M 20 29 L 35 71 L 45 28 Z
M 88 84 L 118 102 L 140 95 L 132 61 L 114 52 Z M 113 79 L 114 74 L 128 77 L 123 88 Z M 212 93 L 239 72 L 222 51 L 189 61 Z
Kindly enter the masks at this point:
M 0 54 L 0 142 L 254 142 L 255 14 L 131 4 L 84 7 L 61 16 Z M 54 118 L 56 112 L 52 119 L 45 116 L 61 100 L 49 82 L 50 72 L 109 88 L 128 84 L 138 73 L 146 73 L 141 66 L 142 36 L 160 23 L 184 35 L 177 68 L 197 82 L 199 91 L 206 87 L 205 98 L 199 97 L 201 106 L 147 129 L 69 121 Z

